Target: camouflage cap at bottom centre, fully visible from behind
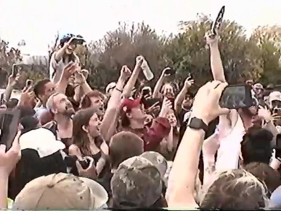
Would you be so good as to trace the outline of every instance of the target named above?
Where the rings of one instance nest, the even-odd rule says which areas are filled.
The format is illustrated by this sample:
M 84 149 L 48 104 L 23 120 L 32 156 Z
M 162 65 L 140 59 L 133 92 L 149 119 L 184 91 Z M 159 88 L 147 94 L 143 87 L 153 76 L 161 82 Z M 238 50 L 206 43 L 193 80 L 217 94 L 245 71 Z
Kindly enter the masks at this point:
M 123 161 L 110 185 L 114 204 L 138 208 L 153 205 L 161 198 L 163 187 L 158 169 L 141 156 Z

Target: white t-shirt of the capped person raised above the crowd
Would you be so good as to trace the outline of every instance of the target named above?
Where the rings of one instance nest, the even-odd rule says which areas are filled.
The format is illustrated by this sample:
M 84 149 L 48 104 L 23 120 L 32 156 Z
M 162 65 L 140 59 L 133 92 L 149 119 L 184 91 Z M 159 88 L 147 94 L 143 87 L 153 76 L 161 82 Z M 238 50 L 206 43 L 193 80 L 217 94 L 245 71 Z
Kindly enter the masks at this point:
M 61 61 L 56 62 L 55 59 L 56 52 L 52 54 L 51 60 L 50 60 L 50 81 L 52 81 L 54 84 L 56 84 L 61 79 L 61 74 L 63 73 L 63 68 L 70 62 L 68 59 L 65 59 L 63 62 L 63 59 Z M 75 53 L 73 53 L 75 57 L 75 62 L 79 63 L 79 58 Z

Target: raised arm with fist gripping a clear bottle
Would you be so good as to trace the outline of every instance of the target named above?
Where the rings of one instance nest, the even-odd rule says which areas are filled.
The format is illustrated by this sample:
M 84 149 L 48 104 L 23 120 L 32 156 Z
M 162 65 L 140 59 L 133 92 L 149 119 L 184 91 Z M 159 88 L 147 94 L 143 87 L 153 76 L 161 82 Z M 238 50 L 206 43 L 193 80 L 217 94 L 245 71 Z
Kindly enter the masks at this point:
M 131 96 L 131 92 L 132 92 L 132 89 L 136 83 L 136 80 L 138 78 L 138 74 L 140 73 L 141 71 L 141 64 L 143 63 L 143 59 L 144 57 L 143 56 L 139 56 L 137 57 L 136 59 L 136 65 L 135 65 L 135 68 L 132 72 L 132 75 L 130 77 L 130 79 L 128 80 L 126 86 L 124 87 L 124 90 L 123 90 L 123 96 L 124 98 L 128 98 Z

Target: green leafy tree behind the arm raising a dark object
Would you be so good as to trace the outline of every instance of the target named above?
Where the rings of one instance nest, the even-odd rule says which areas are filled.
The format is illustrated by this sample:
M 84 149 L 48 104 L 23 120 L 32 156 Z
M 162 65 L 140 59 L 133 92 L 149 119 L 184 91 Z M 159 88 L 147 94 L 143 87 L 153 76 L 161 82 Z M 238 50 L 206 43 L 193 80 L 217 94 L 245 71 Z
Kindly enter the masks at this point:
M 168 43 L 168 55 L 177 70 L 177 78 L 182 81 L 191 72 L 196 85 L 201 86 L 212 78 L 209 49 L 204 40 L 204 34 L 210 29 L 209 16 L 201 14 L 197 20 L 180 22 L 179 28 L 183 33 Z M 263 68 L 260 57 L 256 57 L 259 49 L 254 42 L 247 40 L 245 29 L 236 22 L 226 20 L 219 34 L 219 49 L 227 81 L 235 84 L 249 78 L 260 78 Z

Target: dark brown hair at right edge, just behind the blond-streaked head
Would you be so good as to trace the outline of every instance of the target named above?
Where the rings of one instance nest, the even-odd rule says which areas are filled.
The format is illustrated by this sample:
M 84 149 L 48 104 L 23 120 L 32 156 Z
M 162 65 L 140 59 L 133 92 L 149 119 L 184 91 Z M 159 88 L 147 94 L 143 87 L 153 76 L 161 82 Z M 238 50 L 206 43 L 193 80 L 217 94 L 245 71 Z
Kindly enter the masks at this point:
M 281 185 L 280 173 L 272 169 L 268 164 L 251 162 L 244 169 L 257 177 L 257 179 L 264 181 L 270 195 Z

